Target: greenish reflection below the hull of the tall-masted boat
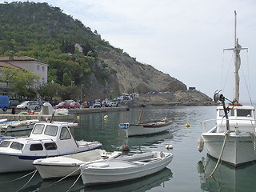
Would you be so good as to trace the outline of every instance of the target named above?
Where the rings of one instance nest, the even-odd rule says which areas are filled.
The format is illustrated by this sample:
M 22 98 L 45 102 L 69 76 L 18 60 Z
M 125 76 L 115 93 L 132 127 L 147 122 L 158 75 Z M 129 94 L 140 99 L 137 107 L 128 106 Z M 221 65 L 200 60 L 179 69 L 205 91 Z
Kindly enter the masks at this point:
M 198 162 L 198 174 L 201 188 L 205 191 L 255 191 L 256 165 L 252 162 L 244 166 L 230 166 L 220 163 L 212 178 L 209 175 L 214 170 L 217 159 L 209 155 Z

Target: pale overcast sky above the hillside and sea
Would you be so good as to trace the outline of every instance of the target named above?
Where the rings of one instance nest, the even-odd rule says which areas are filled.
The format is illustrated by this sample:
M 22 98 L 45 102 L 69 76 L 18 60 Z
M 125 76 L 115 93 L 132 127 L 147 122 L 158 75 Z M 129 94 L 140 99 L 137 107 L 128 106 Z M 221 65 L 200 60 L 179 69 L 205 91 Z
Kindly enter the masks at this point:
M 0 0 L 2 2 L 13 2 Z M 240 100 L 256 101 L 254 0 L 34 0 L 57 6 L 138 62 L 213 98 L 233 100 L 234 10 L 242 47 Z

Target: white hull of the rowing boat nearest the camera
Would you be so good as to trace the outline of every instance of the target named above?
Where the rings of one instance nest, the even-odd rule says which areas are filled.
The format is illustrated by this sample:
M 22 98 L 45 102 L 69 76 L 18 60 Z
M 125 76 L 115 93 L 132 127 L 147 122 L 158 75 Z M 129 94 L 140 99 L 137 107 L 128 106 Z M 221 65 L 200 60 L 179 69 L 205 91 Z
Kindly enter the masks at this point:
M 109 167 L 86 167 L 81 166 L 82 181 L 86 186 L 125 182 L 135 178 L 143 178 L 164 169 L 172 160 L 173 155 L 169 154 L 163 160 L 152 162 L 146 165 L 134 166 L 128 162 L 118 160 L 107 162 Z M 103 162 L 104 165 L 104 162 Z M 114 166 L 114 167 L 112 167 Z M 112 167 L 112 168 L 111 168 Z

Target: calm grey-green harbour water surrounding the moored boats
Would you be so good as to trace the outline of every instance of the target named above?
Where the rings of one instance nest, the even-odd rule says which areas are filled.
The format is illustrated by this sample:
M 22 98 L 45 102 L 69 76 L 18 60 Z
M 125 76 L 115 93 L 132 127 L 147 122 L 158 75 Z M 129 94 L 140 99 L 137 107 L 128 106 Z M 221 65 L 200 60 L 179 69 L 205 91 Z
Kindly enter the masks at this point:
M 106 114 L 81 114 L 78 120 L 79 126 L 72 130 L 77 140 L 102 142 L 102 148 L 107 151 L 119 150 L 122 144 L 127 144 L 130 146 L 130 154 L 152 150 L 169 151 L 174 154 L 174 159 L 166 169 L 146 178 L 86 188 L 82 185 L 82 179 L 78 179 L 70 191 L 255 191 L 256 165 L 253 163 L 238 169 L 221 164 L 214 177 L 209 178 L 217 161 L 207 156 L 206 149 L 199 153 L 197 142 L 202 131 L 200 122 L 215 118 L 215 108 L 215 106 L 165 108 L 146 106 L 143 110 L 142 122 L 168 118 L 174 123 L 169 132 L 134 138 L 125 138 L 126 132 L 120 129 L 118 124 L 138 122 L 139 108 Z M 107 120 L 104 120 L 104 115 L 108 115 Z M 190 123 L 189 128 L 185 127 L 186 123 Z M 173 145 L 173 150 L 166 150 L 168 144 Z M 0 174 L 1 191 L 37 191 L 58 181 L 58 179 L 42 181 L 39 174 L 35 174 L 30 180 L 30 174 L 26 178 L 9 182 L 29 173 Z M 40 191 L 67 191 L 76 178 L 66 178 Z

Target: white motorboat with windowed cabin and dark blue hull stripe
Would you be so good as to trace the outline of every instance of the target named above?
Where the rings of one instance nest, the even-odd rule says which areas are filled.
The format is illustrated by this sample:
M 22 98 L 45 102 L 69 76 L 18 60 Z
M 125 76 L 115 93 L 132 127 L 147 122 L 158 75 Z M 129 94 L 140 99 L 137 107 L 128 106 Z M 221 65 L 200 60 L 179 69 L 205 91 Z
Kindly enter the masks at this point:
M 76 141 L 70 127 L 74 122 L 38 122 L 27 138 L 6 139 L 0 143 L 0 173 L 35 170 L 38 158 L 80 153 L 98 149 L 99 142 Z

